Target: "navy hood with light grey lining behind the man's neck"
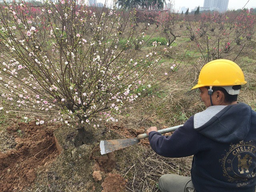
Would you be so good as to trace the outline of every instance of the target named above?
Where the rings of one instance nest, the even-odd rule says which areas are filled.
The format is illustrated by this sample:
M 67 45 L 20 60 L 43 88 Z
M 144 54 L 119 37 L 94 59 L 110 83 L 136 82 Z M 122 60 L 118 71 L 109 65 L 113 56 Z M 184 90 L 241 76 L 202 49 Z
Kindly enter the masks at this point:
M 236 143 L 247 136 L 251 113 L 250 106 L 244 103 L 210 106 L 194 115 L 194 129 L 212 140 Z

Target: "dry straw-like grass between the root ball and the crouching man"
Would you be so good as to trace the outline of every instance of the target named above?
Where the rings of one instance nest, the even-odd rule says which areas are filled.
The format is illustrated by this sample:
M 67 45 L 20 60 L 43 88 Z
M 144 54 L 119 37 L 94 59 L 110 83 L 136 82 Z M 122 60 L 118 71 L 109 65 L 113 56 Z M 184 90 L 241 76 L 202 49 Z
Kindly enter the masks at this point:
M 192 157 L 164 158 L 144 146 L 134 146 L 131 151 L 130 166 L 121 172 L 128 178 L 127 191 L 160 192 L 158 179 L 163 174 L 190 175 Z

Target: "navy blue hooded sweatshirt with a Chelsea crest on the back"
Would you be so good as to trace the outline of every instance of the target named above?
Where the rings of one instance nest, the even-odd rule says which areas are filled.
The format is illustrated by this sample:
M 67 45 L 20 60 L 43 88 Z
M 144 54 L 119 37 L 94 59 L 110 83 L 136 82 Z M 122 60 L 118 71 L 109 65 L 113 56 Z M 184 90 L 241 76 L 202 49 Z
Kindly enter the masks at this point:
M 247 104 L 210 106 L 171 136 L 150 132 L 149 142 L 161 156 L 194 155 L 196 192 L 255 192 L 256 112 Z

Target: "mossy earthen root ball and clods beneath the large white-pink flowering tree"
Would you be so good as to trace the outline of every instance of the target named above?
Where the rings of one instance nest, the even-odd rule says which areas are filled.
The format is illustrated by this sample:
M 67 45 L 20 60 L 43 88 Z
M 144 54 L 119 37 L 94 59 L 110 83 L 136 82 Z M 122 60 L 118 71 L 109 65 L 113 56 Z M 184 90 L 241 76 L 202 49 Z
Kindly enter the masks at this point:
M 120 159 L 118 158 L 120 157 L 114 153 L 100 154 L 99 140 L 102 134 L 111 135 L 111 137 L 116 135 L 112 129 L 112 127 L 111 130 L 104 127 L 96 130 L 94 136 L 95 130 L 86 127 L 86 136 L 90 137 L 93 142 L 76 146 L 78 142 L 75 143 L 75 141 L 78 140 L 79 128 L 70 128 L 64 125 L 56 127 L 52 139 L 54 141 L 56 138 L 56 147 L 61 148 L 61 152 L 55 156 L 54 161 L 51 159 L 35 168 L 36 177 L 31 183 L 27 183 L 26 190 L 125 191 L 127 180 L 119 173 L 118 161 Z M 17 131 L 14 130 L 14 132 Z

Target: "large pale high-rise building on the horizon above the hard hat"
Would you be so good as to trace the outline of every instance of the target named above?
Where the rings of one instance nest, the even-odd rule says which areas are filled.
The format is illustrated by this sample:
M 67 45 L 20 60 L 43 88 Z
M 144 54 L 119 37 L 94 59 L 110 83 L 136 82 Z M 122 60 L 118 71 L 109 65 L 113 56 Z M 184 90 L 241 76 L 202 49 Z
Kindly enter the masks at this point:
M 204 0 L 204 8 L 209 10 L 226 12 L 228 10 L 229 0 Z

